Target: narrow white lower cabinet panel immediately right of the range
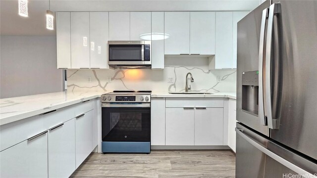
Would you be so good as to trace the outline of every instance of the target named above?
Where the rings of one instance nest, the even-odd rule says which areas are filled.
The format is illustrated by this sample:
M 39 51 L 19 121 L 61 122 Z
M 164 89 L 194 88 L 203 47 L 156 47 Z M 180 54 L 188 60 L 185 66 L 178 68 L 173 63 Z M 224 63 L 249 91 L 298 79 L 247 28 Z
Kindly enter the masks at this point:
M 151 145 L 165 145 L 165 98 L 151 99 Z

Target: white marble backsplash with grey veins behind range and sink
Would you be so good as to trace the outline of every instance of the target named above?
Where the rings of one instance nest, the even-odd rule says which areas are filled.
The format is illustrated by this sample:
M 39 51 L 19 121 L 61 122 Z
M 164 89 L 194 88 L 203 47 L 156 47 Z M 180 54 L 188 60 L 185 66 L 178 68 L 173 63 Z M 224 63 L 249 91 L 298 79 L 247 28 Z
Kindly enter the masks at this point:
M 206 58 L 165 58 L 163 70 L 67 70 L 67 90 L 184 91 L 185 76 L 188 72 L 191 72 L 194 78 L 193 83 L 188 79 L 192 91 L 212 93 L 236 91 L 236 70 L 209 71 Z M 217 76 L 220 77 L 220 82 L 217 82 Z M 168 78 L 173 80 L 168 81 Z

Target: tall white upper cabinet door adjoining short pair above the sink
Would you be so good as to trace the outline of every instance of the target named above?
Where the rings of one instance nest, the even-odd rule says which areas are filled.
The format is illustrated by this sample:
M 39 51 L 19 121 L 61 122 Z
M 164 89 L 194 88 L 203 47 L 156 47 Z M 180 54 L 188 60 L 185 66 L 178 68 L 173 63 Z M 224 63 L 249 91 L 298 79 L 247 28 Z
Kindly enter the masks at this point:
M 232 12 L 216 12 L 215 69 L 232 68 Z

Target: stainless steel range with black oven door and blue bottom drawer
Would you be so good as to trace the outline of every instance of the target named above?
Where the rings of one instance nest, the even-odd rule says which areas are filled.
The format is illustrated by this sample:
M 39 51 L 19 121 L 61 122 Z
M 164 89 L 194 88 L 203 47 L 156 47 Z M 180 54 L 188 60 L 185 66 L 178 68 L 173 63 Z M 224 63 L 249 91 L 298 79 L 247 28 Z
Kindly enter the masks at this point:
M 102 151 L 150 153 L 151 91 L 113 91 L 101 102 Z

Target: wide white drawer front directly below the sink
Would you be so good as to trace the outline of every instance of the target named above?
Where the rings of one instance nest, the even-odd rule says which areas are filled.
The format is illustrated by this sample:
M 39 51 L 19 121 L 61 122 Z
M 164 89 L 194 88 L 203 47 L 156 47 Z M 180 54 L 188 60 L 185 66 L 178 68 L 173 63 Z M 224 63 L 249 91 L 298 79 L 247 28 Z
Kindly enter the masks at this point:
M 166 98 L 166 107 L 223 107 L 223 98 Z

